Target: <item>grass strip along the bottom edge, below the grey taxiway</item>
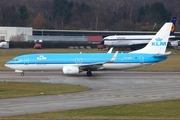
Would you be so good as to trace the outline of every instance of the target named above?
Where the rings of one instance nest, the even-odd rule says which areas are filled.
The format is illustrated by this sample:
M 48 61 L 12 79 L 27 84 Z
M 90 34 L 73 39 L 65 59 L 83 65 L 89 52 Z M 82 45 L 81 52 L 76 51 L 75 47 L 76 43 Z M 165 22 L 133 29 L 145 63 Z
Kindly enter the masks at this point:
M 65 119 L 180 119 L 180 100 L 124 104 L 58 112 L 18 115 L 10 118 Z

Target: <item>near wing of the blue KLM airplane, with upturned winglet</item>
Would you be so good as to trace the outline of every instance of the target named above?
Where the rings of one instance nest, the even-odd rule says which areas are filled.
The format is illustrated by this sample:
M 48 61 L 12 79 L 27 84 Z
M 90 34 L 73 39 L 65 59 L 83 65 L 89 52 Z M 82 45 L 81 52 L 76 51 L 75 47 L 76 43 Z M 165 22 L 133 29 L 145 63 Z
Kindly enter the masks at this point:
M 92 69 L 92 70 L 100 70 L 103 69 L 103 64 L 105 63 L 112 63 L 116 60 L 116 57 L 118 55 L 118 51 L 114 53 L 111 59 L 109 59 L 107 62 L 96 62 L 96 63 L 91 63 L 91 64 L 79 64 L 78 66 L 81 69 Z

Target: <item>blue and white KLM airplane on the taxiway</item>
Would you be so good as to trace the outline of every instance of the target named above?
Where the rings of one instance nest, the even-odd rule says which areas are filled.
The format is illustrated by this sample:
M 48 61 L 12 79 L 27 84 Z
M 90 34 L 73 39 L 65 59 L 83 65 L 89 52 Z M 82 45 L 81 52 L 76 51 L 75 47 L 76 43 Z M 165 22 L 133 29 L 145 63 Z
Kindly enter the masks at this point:
M 142 49 L 129 53 L 38 53 L 13 58 L 5 66 L 21 72 L 26 70 L 58 70 L 63 74 L 78 74 L 86 71 L 92 76 L 97 70 L 122 70 L 155 64 L 167 59 L 166 52 L 172 23 L 165 23 L 151 41 Z

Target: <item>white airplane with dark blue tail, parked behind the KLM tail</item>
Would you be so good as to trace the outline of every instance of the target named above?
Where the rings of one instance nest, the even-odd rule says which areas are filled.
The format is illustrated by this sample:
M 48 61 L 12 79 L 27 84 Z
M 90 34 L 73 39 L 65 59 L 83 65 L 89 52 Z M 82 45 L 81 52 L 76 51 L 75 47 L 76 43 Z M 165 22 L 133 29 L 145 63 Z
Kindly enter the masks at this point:
M 174 30 L 175 30 L 175 23 L 176 17 L 172 17 L 171 21 L 173 23 L 168 45 L 173 46 L 174 44 L 171 41 L 174 41 Z M 136 50 L 143 48 L 149 41 L 153 38 L 154 35 L 112 35 L 105 37 L 101 44 L 105 46 L 111 47 L 130 47 L 131 50 Z

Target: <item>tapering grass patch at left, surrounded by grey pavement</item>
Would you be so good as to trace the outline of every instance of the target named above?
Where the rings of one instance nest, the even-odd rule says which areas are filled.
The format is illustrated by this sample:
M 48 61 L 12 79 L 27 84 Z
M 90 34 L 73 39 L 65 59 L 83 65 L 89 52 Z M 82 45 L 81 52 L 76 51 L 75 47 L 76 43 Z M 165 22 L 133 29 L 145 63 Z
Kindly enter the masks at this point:
M 41 93 L 46 95 L 63 94 L 89 90 L 85 86 L 51 84 L 51 83 L 26 83 L 26 82 L 0 82 L 1 98 L 38 96 Z

